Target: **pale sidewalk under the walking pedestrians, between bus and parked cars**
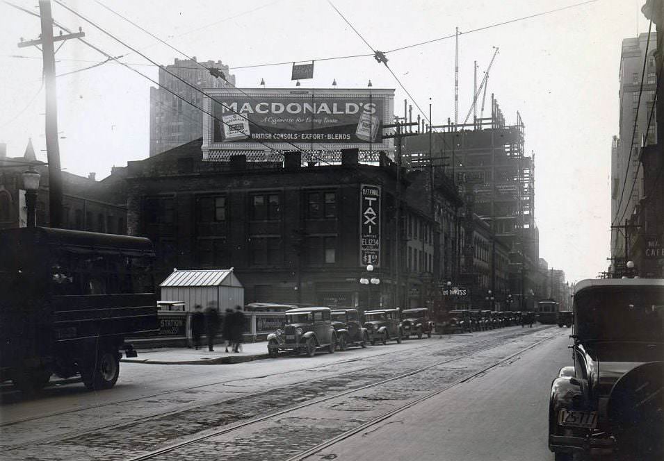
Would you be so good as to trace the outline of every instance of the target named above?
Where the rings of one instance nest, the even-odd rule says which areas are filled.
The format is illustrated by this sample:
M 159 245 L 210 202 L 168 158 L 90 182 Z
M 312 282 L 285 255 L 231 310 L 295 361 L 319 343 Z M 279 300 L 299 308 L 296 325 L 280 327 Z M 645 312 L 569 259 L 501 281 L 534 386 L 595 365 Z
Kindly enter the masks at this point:
M 168 365 L 219 365 L 230 363 L 251 362 L 268 358 L 268 342 L 250 342 L 242 344 L 242 351 L 238 353 L 225 352 L 223 344 L 215 344 L 214 351 L 207 350 L 207 345 L 201 349 L 159 348 L 138 349 L 138 357 L 122 358 L 120 362 L 168 364 Z

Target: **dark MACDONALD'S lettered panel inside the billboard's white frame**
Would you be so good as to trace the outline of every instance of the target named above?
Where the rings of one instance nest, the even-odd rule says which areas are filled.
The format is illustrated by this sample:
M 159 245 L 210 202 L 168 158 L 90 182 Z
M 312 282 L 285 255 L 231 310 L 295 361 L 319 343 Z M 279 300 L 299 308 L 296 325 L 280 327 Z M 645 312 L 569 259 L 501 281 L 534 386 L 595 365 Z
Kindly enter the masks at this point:
M 381 143 L 380 126 L 391 109 L 391 94 L 325 90 L 270 94 L 213 94 L 213 144 L 256 142 Z M 238 114 L 248 124 L 238 123 Z

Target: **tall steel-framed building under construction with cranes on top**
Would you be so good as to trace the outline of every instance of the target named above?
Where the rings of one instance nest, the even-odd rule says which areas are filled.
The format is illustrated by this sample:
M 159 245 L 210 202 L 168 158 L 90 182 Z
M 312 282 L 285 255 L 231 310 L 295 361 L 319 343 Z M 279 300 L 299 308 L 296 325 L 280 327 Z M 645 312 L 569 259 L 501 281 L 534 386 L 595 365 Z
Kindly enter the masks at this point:
M 527 296 L 528 285 L 535 284 L 527 279 L 536 277 L 539 260 L 535 158 L 524 151 L 519 112 L 515 124 L 505 124 L 493 95 L 490 116 L 473 120 L 453 124 L 448 119 L 447 124 L 434 125 L 432 130 L 425 127 L 426 133 L 405 138 L 403 162 L 411 167 L 433 165 L 454 179 L 466 213 L 478 215 L 510 249 L 516 273 L 512 288 Z

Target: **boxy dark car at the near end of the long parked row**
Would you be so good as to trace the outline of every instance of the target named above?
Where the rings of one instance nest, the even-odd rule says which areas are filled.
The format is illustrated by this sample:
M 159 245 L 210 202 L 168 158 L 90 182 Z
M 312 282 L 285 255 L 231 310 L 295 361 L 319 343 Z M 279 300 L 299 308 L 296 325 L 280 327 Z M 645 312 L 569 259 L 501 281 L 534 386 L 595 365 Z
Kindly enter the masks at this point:
M 268 335 L 270 357 L 277 357 L 279 351 L 304 352 L 313 357 L 318 347 L 324 347 L 329 353 L 337 349 L 337 332 L 332 326 L 330 308 L 297 308 L 284 313 L 284 328 Z

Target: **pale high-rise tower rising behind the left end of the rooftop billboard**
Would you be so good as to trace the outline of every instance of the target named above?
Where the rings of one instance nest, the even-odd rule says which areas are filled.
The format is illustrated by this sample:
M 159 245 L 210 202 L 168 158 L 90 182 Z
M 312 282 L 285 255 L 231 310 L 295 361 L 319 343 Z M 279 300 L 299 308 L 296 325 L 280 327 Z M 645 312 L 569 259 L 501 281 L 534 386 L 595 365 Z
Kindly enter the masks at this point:
M 209 69 L 223 72 L 226 80 L 213 76 Z M 204 112 L 198 108 L 204 108 L 204 96 L 195 88 L 203 90 L 234 86 L 235 76 L 229 74 L 228 66 L 221 61 L 197 62 L 194 56 L 191 60 L 176 59 L 174 64 L 161 67 L 159 85 L 150 88 L 151 157 L 201 137 Z M 177 96 L 171 92 L 175 92 Z

